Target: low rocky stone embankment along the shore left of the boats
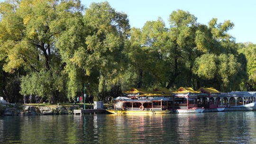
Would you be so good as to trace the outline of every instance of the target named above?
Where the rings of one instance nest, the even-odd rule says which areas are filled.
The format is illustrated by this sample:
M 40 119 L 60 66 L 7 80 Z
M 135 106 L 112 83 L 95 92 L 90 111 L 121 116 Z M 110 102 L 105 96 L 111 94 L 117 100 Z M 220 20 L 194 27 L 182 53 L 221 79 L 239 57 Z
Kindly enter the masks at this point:
M 74 109 L 80 109 L 79 106 L 57 106 L 57 107 L 12 107 L 0 108 L 0 116 L 29 116 L 29 115 L 64 115 L 72 114 Z

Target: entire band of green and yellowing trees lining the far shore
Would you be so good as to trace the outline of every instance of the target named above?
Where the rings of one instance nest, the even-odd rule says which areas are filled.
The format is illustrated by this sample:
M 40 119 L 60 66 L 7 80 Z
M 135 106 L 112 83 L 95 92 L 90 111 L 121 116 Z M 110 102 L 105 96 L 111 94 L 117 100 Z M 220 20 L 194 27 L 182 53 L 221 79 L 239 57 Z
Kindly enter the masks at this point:
M 256 46 L 237 44 L 229 20 L 208 26 L 176 10 L 130 28 L 108 2 L 14 0 L 0 3 L 0 89 L 5 99 L 38 94 L 52 103 L 86 93 L 108 101 L 130 87 L 256 89 Z M 18 94 L 17 98 L 21 96 Z

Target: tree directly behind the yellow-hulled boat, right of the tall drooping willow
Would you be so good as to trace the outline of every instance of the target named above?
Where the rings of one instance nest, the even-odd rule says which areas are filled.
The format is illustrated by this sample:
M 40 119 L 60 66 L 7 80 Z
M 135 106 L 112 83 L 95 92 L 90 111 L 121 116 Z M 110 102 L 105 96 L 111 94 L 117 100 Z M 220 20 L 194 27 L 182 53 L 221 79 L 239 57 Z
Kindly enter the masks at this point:
M 127 76 L 134 81 L 132 86 L 150 88 L 165 86 L 165 74 L 168 66 L 163 61 L 161 53 L 165 46 L 167 29 L 161 18 L 156 21 L 147 21 L 142 29 L 133 27 L 126 50 L 129 58 Z

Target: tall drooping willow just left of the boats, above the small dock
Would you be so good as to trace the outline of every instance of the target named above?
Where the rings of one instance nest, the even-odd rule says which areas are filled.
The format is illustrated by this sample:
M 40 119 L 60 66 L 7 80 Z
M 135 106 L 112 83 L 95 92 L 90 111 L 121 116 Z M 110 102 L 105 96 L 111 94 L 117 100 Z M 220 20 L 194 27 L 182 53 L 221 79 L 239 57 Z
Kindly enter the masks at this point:
M 83 83 L 90 83 L 87 92 L 103 100 L 104 91 L 119 82 L 119 73 L 124 69 L 127 15 L 115 11 L 108 2 L 91 3 L 83 20 L 77 23 L 82 27 L 69 29 L 58 41 L 67 63 L 69 97 L 82 90 Z

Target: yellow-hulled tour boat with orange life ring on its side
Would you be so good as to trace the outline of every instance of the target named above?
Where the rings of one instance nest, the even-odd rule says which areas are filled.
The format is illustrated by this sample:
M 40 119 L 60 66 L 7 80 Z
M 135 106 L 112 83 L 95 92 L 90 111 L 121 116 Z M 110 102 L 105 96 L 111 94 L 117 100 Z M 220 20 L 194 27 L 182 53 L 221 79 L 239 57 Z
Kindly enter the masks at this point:
M 113 114 L 167 114 L 173 110 L 168 106 L 167 98 L 114 99 L 114 109 L 106 109 Z

